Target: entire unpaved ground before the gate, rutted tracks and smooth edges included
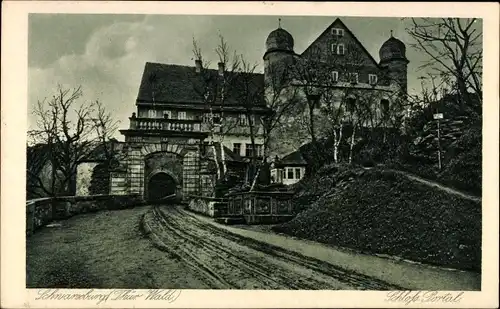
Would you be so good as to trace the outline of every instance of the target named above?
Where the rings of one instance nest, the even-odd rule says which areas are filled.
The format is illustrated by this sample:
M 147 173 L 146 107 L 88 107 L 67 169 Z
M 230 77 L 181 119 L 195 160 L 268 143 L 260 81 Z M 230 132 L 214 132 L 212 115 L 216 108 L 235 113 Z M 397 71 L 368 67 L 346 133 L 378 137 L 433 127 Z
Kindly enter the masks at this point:
M 480 276 L 146 206 L 75 216 L 29 237 L 27 287 L 471 290 Z

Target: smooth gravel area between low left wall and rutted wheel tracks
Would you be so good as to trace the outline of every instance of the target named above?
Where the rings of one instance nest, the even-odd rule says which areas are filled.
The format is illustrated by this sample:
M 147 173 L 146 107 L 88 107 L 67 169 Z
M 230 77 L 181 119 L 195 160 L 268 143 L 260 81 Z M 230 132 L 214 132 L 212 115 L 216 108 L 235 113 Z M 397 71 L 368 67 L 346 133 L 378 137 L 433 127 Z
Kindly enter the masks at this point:
M 27 239 L 27 287 L 208 288 L 202 276 L 140 231 L 149 209 L 79 215 L 37 231 Z

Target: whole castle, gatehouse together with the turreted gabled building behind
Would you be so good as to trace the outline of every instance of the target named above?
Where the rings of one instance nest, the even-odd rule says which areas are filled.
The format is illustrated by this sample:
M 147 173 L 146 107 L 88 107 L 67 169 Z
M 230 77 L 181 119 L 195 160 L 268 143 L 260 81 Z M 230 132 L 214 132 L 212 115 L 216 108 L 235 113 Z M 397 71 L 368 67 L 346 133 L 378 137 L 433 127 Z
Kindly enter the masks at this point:
M 111 173 L 110 193 L 139 193 L 150 198 L 180 192 L 183 196 L 210 195 L 216 174 L 244 170 L 254 152 L 262 155 L 264 139 L 259 119 L 271 112 L 264 96 L 276 86 L 273 80 L 277 76 L 294 67 L 306 64 L 323 68 L 327 74 L 316 74 L 314 87 L 328 86 L 337 91 L 334 98 L 339 104 L 343 100 L 341 93 L 349 90 L 350 104 L 357 104 L 357 98 L 368 94 L 376 105 L 374 110 L 389 109 L 396 97 L 406 92 L 406 50 L 392 36 L 381 46 L 379 62 L 340 19 L 302 54 L 295 53 L 292 35 L 281 26 L 269 34 L 265 45 L 264 74 L 247 76 L 254 94 L 262 98 L 250 108 L 257 130 L 254 143 L 246 117 L 249 107 L 241 94 L 229 89 L 221 100 L 217 94 L 204 92 L 207 81 L 230 74 L 222 64 L 212 70 L 202 68 L 200 61 L 195 61 L 194 66 L 146 63 L 137 111 L 129 118 L 129 128 L 120 131 L 125 136 L 124 159 L 120 168 Z M 286 75 L 290 76 L 288 72 Z M 304 92 L 301 78 L 282 82 Z M 210 95 L 214 98 L 207 104 Z M 306 97 L 307 93 L 302 95 Z M 218 158 L 228 166 L 217 166 Z M 304 169 L 297 162 L 292 162 L 289 169 L 286 163 L 281 164 L 285 178 L 288 174 L 295 180 L 303 176 Z M 285 173 L 275 171 L 275 178 L 282 179 L 279 175 Z

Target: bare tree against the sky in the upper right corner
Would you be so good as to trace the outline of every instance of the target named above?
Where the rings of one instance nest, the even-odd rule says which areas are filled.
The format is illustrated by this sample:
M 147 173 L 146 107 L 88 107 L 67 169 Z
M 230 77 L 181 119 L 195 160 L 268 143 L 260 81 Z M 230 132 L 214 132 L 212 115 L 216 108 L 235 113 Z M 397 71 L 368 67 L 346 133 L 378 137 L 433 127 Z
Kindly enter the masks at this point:
M 430 58 L 421 68 L 428 68 L 434 76 L 451 81 L 462 109 L 480 116 L 483 57 L 479 20 L 411 18 L 407 31 L 415 40 L 411 46 Z M 479 102 L 479 106 L 475 102 Z

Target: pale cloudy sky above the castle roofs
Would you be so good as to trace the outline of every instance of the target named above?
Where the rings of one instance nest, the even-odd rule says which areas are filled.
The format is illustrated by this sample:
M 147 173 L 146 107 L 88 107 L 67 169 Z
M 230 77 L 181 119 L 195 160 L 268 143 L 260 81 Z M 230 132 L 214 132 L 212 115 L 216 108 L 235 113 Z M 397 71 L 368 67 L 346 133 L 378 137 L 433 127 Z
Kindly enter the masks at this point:
M 28 38 L 28 122 L 32 107 L 50 97 L 57 84 L 81 85 L 85 100 L 99 99 L 121 122 L 135 110 L 135 98 L 145 62 L 193 64 L 192 39 L 199 41 L 204 57 L 217 63 L 214 48 L 222 34 L 231 49 L 262 69 L 267 35 L 280 16 L 202 15 L 78 15 L 31 14 Z M 295 39 L 301 53 L 337 16 L 281 16 L 282 27 Z M 399 18 L 340 17 L 372 56 L 379 60 L 382 43 L 394 36 L 410 42 Z M 419 89 L 417 67 L 426 58 L 407 49 L 409 90 Z

